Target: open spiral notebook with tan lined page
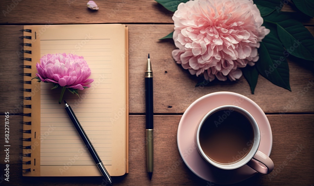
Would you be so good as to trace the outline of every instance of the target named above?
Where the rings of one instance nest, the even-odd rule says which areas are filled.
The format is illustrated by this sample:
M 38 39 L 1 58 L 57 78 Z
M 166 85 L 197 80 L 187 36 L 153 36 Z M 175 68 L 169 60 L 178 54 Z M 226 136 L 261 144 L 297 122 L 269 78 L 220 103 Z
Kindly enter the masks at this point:
M 61 87 L 37 82 L 46 54 L 83 56 L 91 87 L 64 94 L 111 176 L 128 172 L 128 30 L 120 24 L 27 25 L 23 50 L 23 176 L 101 176 L 83 140 L 58 104 Z M 21 41 L 22 42 L 22 41 Z

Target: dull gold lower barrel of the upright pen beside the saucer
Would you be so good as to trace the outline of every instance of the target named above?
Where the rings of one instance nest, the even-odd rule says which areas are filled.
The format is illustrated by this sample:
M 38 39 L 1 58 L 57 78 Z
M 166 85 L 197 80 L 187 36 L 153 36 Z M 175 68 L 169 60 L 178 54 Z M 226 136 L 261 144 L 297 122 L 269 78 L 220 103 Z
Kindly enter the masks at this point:
M 147 172 L 154 169 L 154 129 L 146 129 Z

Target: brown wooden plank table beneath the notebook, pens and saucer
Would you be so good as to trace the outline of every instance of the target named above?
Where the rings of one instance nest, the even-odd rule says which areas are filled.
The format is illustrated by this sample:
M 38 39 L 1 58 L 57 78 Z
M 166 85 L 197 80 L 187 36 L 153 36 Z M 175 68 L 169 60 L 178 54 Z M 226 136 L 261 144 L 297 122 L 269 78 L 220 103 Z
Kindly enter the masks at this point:
M 100 177 L 29 178 L 22 177 L 18 138 L 22 133 L 18 113 L 23 85 L 18 45 L 24 24 L 124 23 L 129 26 L 129 173 L 114 177 L 115 185 L 214 185 L 194 175 L 181 161 L 176 134 L 181 115 L 197 98 L 216 91 L 232 91 L 255 101 L 267 114 L 273 131 L 270 157 L 275 164 L 274 178 L 257 174 L 236 185 L 313 185 L 314 184 L 314 79 L 313 63 L 289 58 L 292 92 L 273 85 L 259 76 L 255 94 L 244 77 L 235 83 L 212 83 L 195 87 L 196 77 L 181 68 L 171 57 L 173 41 L 158 41 L 173 30 L 173 13 L 152 0 L 97 1 L 99 11 L 86 8 L 82 0 L 2 0 L 0 2 L 0 121 L 10 112 L 10 182 L 3 181 L 5 152 L 0 150 L 0 184 L 2 185 L 101 185 Z M 15 4 L 14 4 L 15 3 Z M 289 7 L 285 9 L 291 10 Z M 3 12 L 3 10 L 5 12 Z M 7 12 L 7 13 L 6 13 Z M 314 33 L 313 19 L 304 25 Z M 144 79 L 145 58 L 150 53 L 154 68 L 154 174 L 146 172 Z M 309 86 L 308 86 L 309 85 Z M 306 88 L 306 87 L 310 88 Z M 284 112 L 283 115 L 279 113 Z M 4 126 L 0 129 L 4 136 Z M 1 141 L 4 145 L 4 141 Z M 288 156 L 298 146 L 304 147 L 286 165 Z M 290 159 L 289 159 L 290 160 Z M 217 185 L 217 184 L 216 184 Z

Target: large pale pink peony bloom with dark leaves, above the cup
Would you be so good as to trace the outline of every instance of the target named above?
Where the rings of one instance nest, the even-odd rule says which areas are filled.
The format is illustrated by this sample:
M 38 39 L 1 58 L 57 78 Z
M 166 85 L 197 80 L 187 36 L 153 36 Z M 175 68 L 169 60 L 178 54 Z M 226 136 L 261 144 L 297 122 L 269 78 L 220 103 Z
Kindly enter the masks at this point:
M 239 79 L 239 68 L 258 60 L 260 41 L 270 32 L 251 0 L 194 0 L 180 3 L 174 21 L 174 60 L 212 81 Z

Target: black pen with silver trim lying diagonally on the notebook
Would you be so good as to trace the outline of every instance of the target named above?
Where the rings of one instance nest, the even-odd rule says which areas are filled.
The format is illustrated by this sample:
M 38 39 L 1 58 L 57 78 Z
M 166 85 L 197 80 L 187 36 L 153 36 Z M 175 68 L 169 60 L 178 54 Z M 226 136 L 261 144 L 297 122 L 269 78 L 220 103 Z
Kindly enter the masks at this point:
M 68 115 L 71 119 L 71 121 L 73 122 L 76 130 L 78 131 L 78 134 L 81 136 L 81 138 L 84 141 L 84 144 L 86 145 L 86 148 L 89 150 L 90 155 L 93 157 L 97 167 L 99 168 L 101 174 L 106 178 L 106 181 L 112 185 L 112 179 L 109 175 L 109 173 L 107 172 L 106 168 L 104 167 L 102 161 L 100 160 L 96 150 L 94 149 L 92 143 L 89 141 L 84 129 L 82 128 L 81 124 L 78 121 L 78 118 L 76 118 L 72 108 L 68 105 L 68 103 L 66 101 L 64 101 L 65 103 L 65 110 L 68 112 Z

